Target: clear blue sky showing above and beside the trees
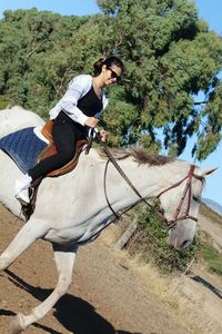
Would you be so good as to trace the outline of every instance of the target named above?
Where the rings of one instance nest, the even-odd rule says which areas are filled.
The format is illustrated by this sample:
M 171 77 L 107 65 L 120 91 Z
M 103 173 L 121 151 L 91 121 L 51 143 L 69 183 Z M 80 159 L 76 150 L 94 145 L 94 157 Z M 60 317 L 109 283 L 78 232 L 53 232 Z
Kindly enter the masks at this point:
M 199 17 L 209 23 L 211 30 L 222 36 L 222 0 L 195 0 L 195 4 L 199 10 Z M 2 17 L 2 12 L 7 9 L 30 9 L 33 7 L 38 10 L 49 10 L 65 16 L 82 16 L 99 12 L 97 0 L 7 0 L 0 2 L 0 18 Z M 180 158 L 193 163 L 190 154 L 192 145 L 193 140 L 190 140 L 185 153 Z M 196 165 L 201 168 L 220 167 L 214 175 L 209 177 L 203 197 L 211 198 L 222 205 L 222 143 L 206 160 L 196 163 Z

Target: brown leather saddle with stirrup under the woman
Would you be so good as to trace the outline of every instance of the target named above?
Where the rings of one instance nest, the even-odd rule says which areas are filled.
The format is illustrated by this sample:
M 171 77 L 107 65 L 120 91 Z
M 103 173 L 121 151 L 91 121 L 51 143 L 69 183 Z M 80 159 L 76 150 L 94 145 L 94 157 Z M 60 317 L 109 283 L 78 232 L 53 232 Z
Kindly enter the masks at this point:
M 46 159 L 47 157 L 50 157 L 50 156 L 57 154 L 57 148 L 56 148 L 56 145 L 54 145 L 53 138 L 52 138 L 52 126 L 53 126 L 53 120 L 49 120 L 46 122 L 46 125 L 41 129 L 41 135 L 43 135 L 49 140 L 49 145 L 40 153 L 40 155 L 37 158 L 37 163 Z M 71 170 L 73 170 L 78 165 L 80 154 L 82 153 L 84 147 L 85 147 L 85 154 L 88 154 L 91 148 L 91 145 L 92 145 L 92 138 L 90 138 L 89 140 L 88 139 L 79 139 L 75 144 L 75 155 L 72 158 L 72 160 L 69 161 L 67 165 L 50 171 L 47 176 L 57 177 L 57 176 L 60 176 L 60 175 L 63 175 L 63 174 L 67 174 Z M 30 218 L 30 216 L 34 212 L 38 188 L 39 188 L 39 185 L 42 181 L 42 179 L 43 179 L 43 177 L 34 180 L 31 184 L 30 203 L 26 204 L 26 203 L 20 202 L 21 203 L 21 212 L 24 215 L 27 220 Z

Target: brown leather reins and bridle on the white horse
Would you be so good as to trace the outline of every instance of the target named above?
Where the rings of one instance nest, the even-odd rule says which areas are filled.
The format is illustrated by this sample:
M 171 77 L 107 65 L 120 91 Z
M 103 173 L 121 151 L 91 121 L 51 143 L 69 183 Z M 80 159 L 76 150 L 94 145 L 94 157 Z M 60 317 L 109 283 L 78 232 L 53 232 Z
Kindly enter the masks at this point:
M 125 173 L 122 170 L 122 168 L 120 167 L 120 165 L 117 163 L 117 160 L 114 159 L 114 157 L 112 156 L 111 151 L 109 150 L 108 146 L 105 143 L 101 141 L 101 139 L 99 138 L 99 136 L 97 136 L 100 144 L 103 146 L 103 149 L 108 156 L 108 161 L 107 161 L 107 165 L 105 165 L 105 169 L 104 169 L 104 178 L 103 178 L 103 186 L 104 186 L 104 195 L 105 195 L 105 199 L 107 199 L 107 203 L 108 203 L 108 206 L 110 208 L 110 210 L 113 213 L 114 215 L 114 219 L 120 219 L 120 217 L 127 213 L 128 210 L 130 210 L 132 207 L 134 207 L 135 205 L 138 205 L 139 203 L 143 202 L 145 203 L 149 208 L 154 212 L 159 218 L 161 218 L 161 220 L 164 223 L 165 227 L 168 229 L 171 229 L 173 228 L 176 223 L 179 220 L 183 220 L 183 219 L 191 219 L 191 220 L 194 220 L 194 222 L 198 222 L 198 218 L 190 215 L 190 206 L 191 206 L 191 197 L 192 197 L 192 178 L 196 178 L 199 180 L 202 181 L 202 177 L 194 174 L 194 169 L 195 169 L 195 166 L 194 165 L 191 165 L 191 168 L 188 173 L 188 175 L 185 177 L 183 177 L 181 180 L 179 180 L 178 183 L 173 184 L 172 186 L 170 186 L 169 188 L 162 190 L 158 196 L 157 198 L 160 198 L 163 194 L 165 194 L 167 191 L 173 189 L 173 188 L 176 188 L 179 187 L 182 183 L 186 181 L 185 183 L 185 186 L 184 186 L 184 190 L 183 190 L 183 194 L 180 198 L 180 202 L 178 204 L 178 207 L 175 209 L 175 213 L 173 215 L 173 218 L 172 219 L 167 219 L 163 214 L 160 212 L 160 210 L 157 210 L 157 208 L 151 205 L 148 199 L 145 199 L 144 197 L 142 197 L 142 195 L 138 191 L 138 189 L 134 187 L 134 185 L 131 183 L 131 180 L 128 178 L 128 176 L 125 175 Z M 107 171 L 108 171 L 108 165 L 109 163 L 112 163 L 113 166 L 117 168 L 117 170 L 119 171 L 119 174 L 124 178 L 124 180 L 128 183 L 128 185 L 131 187 L 131 189 L 137 194 L 137 196 L 139 197 L 139 200 L 135 202 L 133 205 L 131 205 L 130 207 L 128 207 L 124 212 L 122 212 L 121 214 L 118 214 L 113 207 L 111 206 L 110 202 L 109 202 L 109 198 L 108 198 L 108 193 L 107 193 Z M 186 194 L 188 194 L 188 205 L 186 205 L 186 209 L 185 209 L 185 213 L 184 215 L 180 216 L 180 212 L 181 212 L 181 208 L 182 208 L 182 205 L 183 205 L 183 202 L 186 197 Z M 114 220 L 113 219 L 113 220 Z M 112 220 L 112 222 L 113 222 Z M 112 222 L 110 222 L 109 224 L 111 224 Z

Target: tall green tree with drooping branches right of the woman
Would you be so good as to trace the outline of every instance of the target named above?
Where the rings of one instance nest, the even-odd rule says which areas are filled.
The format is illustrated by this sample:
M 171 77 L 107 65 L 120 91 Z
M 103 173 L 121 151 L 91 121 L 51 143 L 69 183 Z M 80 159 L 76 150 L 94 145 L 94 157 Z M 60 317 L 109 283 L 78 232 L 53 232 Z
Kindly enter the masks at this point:
M 157 129 L 161 129 L 165 148 L 180 155 L 189 137 L 196 134 L 193 154 L 204 159 L 221 140 L 222 95 L 216 79 L 222 68 L 221 37 L 198 19 L 190 1 L 98 3 L 105 17 L 108 51 L 123 57 L 128 68 L 121 99 L 137 109 L 129 141 L 141 138 L 148 147 L 153 149 L 155 144 L 159 149 Z M 196 104 L 200 91 L 204 98 Z M 122 129 L 119 136 L 125 132 Z

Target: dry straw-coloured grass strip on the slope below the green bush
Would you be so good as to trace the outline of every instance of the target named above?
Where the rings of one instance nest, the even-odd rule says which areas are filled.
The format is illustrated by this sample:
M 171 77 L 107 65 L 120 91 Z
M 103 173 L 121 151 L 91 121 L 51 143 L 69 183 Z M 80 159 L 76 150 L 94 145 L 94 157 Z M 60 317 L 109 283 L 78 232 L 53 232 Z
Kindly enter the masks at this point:
M 122 225 L 110 226 L 102 235 L 102 242 L 113 247 L 125 224 L 128 222 L 123 222 Z M 168 305 L 169 312 L 173 313 L 178 321 L 186 327 L 188 333 L 222 333 L 220 316 L 222 302 L 211 292 L 205 291 L 203 286 L 185 275 L 162 275 L 152 263 L 144 263 L 142 254 L 132 257 L 127 250 L 118 250 L 115 255 L 122 265 L 135 272 L 143 286 L 148 288 L 148 293 L 152 292 Z

